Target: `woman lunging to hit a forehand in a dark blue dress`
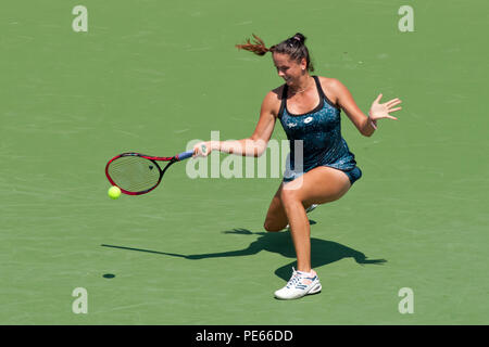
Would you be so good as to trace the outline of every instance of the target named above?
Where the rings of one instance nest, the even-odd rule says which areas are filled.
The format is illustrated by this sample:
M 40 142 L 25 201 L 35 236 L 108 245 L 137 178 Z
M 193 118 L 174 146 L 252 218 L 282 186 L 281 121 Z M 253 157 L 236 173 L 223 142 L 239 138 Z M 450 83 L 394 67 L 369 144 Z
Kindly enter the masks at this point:
M 277 119 L 280 121 L 290 141 L 289 169 L 272 198 L 264 228 L 280 231 L 287 224 L 290 227 L 297 269 L 292 268 L 291 279 L 275 292 L 275 297 L 294 299 L 319 293 L 322 288 L 316 272 L 311 269 L 311 231 L 306 209 L 340 198 L 362 177 L 354 155 L 341 136 L 341 111 L 361 134 L 371 137 L 379 119 L 397 120 L 390 113 L 401 110 L 396 107 L 401 101 L 392 99 L 380 103 L 383 94 L 379 94 L 366 116 L 338 79 L 311 75 L 314 68 L 302 34 L 298 33 L 271 48 L 266 48 L 258 36 L 253 37 L 253 42 L 247 40 L 236 47 L 259 55 L 271 52 L 278 76 L 285 83 L 265 95 L 260 119 L 250 138 L 201 142 L 196 144 L 193 155 L 208 156 L 212 151 L 221 151 L 260 156 L 266 150 Z M 298 140 L 302 141 L 302 153 L 296 153 Z

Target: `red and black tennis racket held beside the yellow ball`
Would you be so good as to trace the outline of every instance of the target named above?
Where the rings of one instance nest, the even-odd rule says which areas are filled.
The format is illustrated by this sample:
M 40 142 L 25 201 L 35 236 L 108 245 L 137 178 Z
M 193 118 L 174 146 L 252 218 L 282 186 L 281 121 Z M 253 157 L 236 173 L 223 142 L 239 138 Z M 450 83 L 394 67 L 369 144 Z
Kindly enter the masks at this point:
M 141 195 L 151 192 L 160 184 L 163 175 L 174 163 L 191 157 L 193 151 L 164 157 L 140 153 L 123 153 L 114 156 L 105 166 L 105 176 L 112 185 L 127 195 Z M 166 162 L 162 169 L 158 163 Z

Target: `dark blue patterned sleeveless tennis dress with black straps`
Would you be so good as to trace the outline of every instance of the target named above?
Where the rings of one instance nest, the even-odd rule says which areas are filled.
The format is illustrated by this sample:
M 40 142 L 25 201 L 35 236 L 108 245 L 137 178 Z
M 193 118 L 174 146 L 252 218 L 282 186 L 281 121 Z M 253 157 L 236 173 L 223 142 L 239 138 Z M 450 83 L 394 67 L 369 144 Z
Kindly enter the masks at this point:
M 294 115 L 287 110 L 288 86 L 284 86 L 278 118 L 290 142 L 284 181 L 292 181 L 315 167 L 329 166 L 347 174 L 353 184 L 362 177 L 362 170 L 341 137 L 341 110 L 325 95 L 319 78 L 313 78 L 319 93 L 319 104 L 306 114 Z M 302 141 L 302 160 L 300 152 L 296 153 L 296 146 L 298 151 L 301 147 L 297 140 Z

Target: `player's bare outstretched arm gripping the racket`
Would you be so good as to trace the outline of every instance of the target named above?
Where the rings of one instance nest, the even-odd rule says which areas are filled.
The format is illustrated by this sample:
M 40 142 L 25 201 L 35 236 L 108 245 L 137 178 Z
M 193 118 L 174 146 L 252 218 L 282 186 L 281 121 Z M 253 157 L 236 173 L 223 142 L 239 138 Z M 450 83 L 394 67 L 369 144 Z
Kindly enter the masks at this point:
M 268 145 L 269 138 L 274 131 L 277 119 L 280 101 L 277 90 L 271 91 L 265 95 L 260 110 L 260 118 L 251 137 L 236 141 L 208 141 L 196 144 L 193 147 L 195 156 L 208 156 L 212 151 L 242 155 L 261 156 Z M 208 151 L 203 153 L 202 145 Z

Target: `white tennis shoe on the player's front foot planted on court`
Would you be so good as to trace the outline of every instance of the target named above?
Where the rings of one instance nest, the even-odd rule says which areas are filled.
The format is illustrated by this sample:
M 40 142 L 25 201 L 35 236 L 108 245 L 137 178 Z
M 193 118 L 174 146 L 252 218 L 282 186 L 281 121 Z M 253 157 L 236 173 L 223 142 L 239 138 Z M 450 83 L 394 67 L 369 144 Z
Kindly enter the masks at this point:
M 316 294 L 322 290 L 319 278 L 316 271 L 311 270 L 310 273 L 296 271 L 292 268 L 292 277 L 286 286 L 275 292 L 277 299 L 290 300 L 298 299 L 304 295 Z

